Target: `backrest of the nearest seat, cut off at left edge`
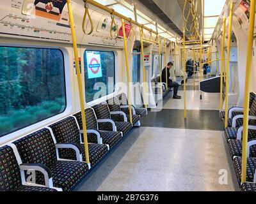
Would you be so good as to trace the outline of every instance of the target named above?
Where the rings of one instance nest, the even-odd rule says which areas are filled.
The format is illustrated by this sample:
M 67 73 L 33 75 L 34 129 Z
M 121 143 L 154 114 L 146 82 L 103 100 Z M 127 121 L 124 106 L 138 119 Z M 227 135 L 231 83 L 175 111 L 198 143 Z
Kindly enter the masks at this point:
M 0 191 L 15 191 L 21 184 L 19 164 L 12 147 L 0 147 Z

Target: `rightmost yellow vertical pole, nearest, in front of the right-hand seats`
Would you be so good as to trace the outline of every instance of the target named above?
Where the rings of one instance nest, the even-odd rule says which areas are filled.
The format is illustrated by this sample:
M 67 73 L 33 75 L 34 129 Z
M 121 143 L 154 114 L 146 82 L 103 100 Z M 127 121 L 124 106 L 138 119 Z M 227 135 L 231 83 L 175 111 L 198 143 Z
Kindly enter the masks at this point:
M 246 166 L 247 166 L 247 142 L 248 142 L 248 114 L 250 101 L 250 84 L 252 74 L 252 49 L 253 49 L 253 32 L 255 24 L 255 0 L 251 0 L 250 22 L 248 31 L 248 47 L 246 59 L 246 74 L 244 85 L 244 129 L 243 129 L 243 152 L 242 152 L 242 184 L 246 182 Z

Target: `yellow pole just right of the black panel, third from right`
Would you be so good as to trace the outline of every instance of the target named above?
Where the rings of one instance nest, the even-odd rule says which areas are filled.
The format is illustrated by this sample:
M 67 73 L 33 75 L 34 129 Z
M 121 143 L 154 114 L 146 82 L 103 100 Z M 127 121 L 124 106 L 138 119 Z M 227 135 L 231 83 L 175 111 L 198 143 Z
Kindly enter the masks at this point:
M 222 26 L 222 41 L 221 41 L 221 71 L 220 71 L 220 111 L 222 110 L 223 106 L 223 71 L 224 71 L 224 47 L 225 47 L 225 33 L 226 33 L 226 18 L 223 19 L 223 26 Z

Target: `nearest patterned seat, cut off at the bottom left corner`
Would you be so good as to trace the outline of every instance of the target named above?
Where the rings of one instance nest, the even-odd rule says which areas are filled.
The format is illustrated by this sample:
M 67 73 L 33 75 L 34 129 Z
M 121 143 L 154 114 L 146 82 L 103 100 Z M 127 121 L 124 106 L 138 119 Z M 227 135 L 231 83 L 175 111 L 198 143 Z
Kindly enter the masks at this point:
M 56 191 L 48 187 L 22 185 L 20 173 L 12 147 L 0 147 L 0 191 Z

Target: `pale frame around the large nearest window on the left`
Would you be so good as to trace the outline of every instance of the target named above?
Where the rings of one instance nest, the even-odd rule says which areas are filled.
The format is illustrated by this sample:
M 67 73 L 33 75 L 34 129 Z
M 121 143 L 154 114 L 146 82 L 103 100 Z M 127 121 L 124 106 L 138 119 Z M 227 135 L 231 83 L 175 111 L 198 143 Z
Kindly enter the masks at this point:
M 63 112 L 58 113 L 57 115 L 52 115 L 51 117 L 47 117 L 44 120 L 40 120 L 38 122 L 35 122 L 33 124 L 29 124 L 28 126 L 24 126 L 23 128 L 16 129 L 15 131 L 12 131 L 8 133 L 7 135 L 0 136 L 0 146 L 3 145 L 6 142 L 10 142 L 13 140 L 16 140 L 17 138 L 20 138 L 20 135 L 28 135 L 30 133 L 33 133 L 34 131 L 37 131 L 39 129 L 44 128 L 44 126 L 47 126 L 51 124 L 52 122 L 56 120 L 60 120 L 63 117 L 67 117 L 68 114 L 70 114 L 72 110 L 72 87 L 70 78 L 68 76 L 71 75 L 70 72 L 70 56 L 68 54 L 68 50 L 65 47 L 60 46 L 47 46 L 42 45 L 41 43 L 28 43 L 27 45 L 22 43 L 0 43 L 0 47 L 17 47 L 17 48 L 38 48 L 38 49 L 52 49 L 52 50 L 60 50 L 61 54 L 63 55 L 63 79 L 64 79 L 64 85 L 65 85 L 65 109 Z M 70 76 L 71 77 L 71 76 Z

